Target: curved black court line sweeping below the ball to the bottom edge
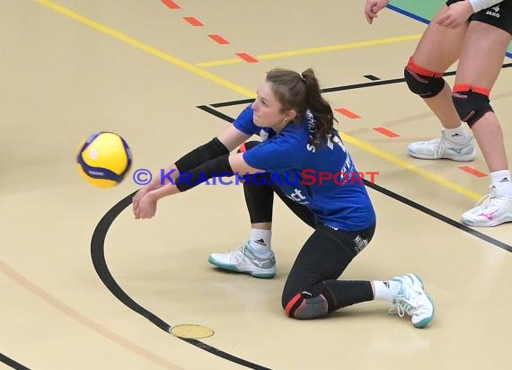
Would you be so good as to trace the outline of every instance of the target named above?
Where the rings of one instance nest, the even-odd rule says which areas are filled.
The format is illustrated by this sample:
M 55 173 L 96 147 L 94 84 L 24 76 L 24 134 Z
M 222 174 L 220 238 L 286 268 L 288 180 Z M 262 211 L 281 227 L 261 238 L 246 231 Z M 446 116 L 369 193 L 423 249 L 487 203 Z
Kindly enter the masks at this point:
M 96 270 L 96 273 L 102 280 L 103 284 L 110 290 L 110 293 L 116 296 L 116 298 L 118 298 L 119 301 L 122 304 L 125 304 L 129 309 L 146 317 L 146 319 L 152 322 L 156 327 L 171 335 L 170 330 L 172 329 L 172 326 L 169 323 L 164 322 L 161 318 L 144 308 L 142 305 L 137 304 L 136 301 L 134 301 L 128 294 L 126 294 L 126 292 L 119 286 L 112 274 L 110 274 L 109 266 L 105 260 L 105 237 L 109 232 L 110 225 L 112 225 L 116 217 L 119 216 L 120 213 L 132 203 L 132 198 L 136 192 L 137 191 L 134 191 L 133 193 L 129 194 L 127 197 L 121 199 L 119 203 L 114 207 L 110 208 L 109 212 L 107 212 L 105 216 L 102 217 L 98 225 L 96 225 L 93 237 L 91 239 L 91 258 L 93 259 L 93 266 Z M 193 346 L 196 346 L 197 348 L 211 353 L 212 355 L 224 358 L 225 360 L 231 361 L 235 364 L 257 370 L 269 370 L 269 367 L 260 366 L 250 361 L 244 360 L 243 358 L 235 357 L 234 355 L 230 355 L 229 353 L 226 353 L 218 348 L 209 346 L 198 339 L 178 339 L 181 339 Z

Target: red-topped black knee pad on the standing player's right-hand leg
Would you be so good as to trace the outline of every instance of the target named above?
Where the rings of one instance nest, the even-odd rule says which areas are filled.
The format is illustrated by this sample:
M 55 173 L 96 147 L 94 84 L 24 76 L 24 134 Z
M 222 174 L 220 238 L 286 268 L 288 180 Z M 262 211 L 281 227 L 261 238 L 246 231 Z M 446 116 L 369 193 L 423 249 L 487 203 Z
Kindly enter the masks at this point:
M 471 128 L 485 113 L 492 110 L 489 101 L 490 91 L 487 89 L 469 86 L 456 85 L 452 100 L 455 110 L 463 122 L 466 122 Z

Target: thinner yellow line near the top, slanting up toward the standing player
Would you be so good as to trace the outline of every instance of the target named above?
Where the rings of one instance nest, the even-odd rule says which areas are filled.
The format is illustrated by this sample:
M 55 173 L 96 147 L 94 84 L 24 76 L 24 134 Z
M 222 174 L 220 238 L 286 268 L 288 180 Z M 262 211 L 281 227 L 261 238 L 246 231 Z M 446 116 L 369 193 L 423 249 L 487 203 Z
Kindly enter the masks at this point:
M 303 56 L 306 54 L 324 53 L 327 51 L 345 50 L 345 49 L 349 49 L 349 48 L 366 48 L 366 47 L 373 47 L 376 45 L 391 44 L 394 42 L 419 40 L 420 38 L 421 38 L 421 33 L 416 33 L 413 35 L 392 37 L 392 38 L 387 38 L 387 39 L 350 42 L 349 44 L 330 45 L 330 46 L 318 47 L 318 48 L 303 48 L 301 50 L 281 51 L 279 53 L 272 53 L 272 54 L 261 54 L 259 56 L 256 56 L 255 58 L 258 60 L 269 60 L 269 59 L 278 59 L 278 58 L 283 58 L 283 57 L 296 57 L 296 56 Z M 196 66 L 203 66 L 203 67 L 204 66 L 225 66 L 225 65 L 233 65 L 235 63 L 241 63 L 241 62 L 242 62 L 242 59 L 234 57 L 234 58 L 230 58 L 230 59 L 213 60 L 210 62 L 200 62 L 200 63 L 196 63 Z

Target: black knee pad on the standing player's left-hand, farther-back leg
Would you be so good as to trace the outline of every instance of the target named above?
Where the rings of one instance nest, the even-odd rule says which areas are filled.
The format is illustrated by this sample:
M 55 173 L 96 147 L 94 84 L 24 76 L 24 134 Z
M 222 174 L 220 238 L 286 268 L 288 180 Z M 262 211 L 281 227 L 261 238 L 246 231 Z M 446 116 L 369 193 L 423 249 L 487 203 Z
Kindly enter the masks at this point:
M 432 98 L 441 93 L 445 87 L 445 80 L 442 72 L 432 72 L 421 66 L 417 66 L 409 59 L 409 63 L 403 70 L 405 82 L 412 93 L 421 98 Z

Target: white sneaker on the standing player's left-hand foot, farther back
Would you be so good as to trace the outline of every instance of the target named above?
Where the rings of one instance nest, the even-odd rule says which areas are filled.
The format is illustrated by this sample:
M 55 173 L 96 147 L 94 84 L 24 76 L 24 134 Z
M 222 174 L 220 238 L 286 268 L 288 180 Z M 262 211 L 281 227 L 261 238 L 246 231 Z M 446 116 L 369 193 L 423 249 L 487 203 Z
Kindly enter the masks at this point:
M 472 136 L 463 144 L 455 144 L 446 136 L 446 131 L 442 130 L 441 137 L 437 139 L 410 143 L 407 152 L 419 159 L 446 158 L 457 162 L 469 162 L 474 159 L 476 149 Z

